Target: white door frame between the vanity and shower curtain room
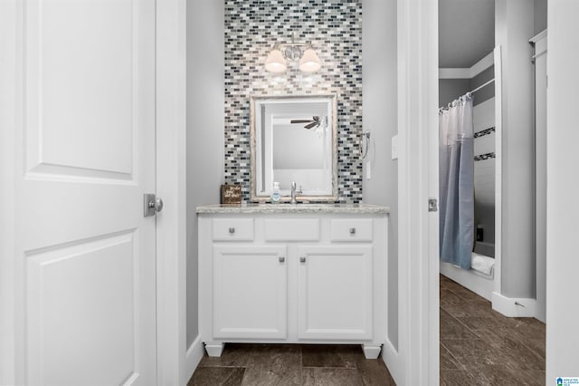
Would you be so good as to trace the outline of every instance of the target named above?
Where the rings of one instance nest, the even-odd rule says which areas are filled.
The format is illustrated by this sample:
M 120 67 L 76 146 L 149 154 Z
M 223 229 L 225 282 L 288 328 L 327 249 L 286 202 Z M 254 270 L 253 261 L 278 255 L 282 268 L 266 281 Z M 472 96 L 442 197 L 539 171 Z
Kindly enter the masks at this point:
M 438 1 L 398 0 L 400 384 L 439 384 Z

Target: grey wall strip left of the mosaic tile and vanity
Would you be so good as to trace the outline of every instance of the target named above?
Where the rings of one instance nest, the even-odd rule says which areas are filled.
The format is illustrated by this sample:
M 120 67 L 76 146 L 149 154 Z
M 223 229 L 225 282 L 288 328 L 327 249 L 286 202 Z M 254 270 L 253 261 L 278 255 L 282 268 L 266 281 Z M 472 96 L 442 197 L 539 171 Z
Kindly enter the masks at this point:
M 198 333 L 195 208 L 223 184 L 223 1 L 187 1 L 187 347 Z

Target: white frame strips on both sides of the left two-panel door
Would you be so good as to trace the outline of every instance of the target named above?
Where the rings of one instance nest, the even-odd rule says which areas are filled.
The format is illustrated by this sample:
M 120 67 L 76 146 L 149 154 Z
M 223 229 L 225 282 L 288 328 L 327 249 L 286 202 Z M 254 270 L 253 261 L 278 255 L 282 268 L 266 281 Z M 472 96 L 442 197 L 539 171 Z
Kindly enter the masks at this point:
M 14 138 L 19 0 L 0 2 L 0 384 L 14 384 Z M 157 0 L 157 384 L 185 384 L 186 0 Z

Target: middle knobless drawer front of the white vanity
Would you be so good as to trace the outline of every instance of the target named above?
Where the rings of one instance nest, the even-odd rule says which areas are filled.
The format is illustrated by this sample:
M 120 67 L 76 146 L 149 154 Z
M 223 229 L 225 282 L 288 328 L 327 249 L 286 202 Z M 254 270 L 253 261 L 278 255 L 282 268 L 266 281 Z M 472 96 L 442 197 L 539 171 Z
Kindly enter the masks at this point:
M 264 221 L 266 241 L 318 241 L 318 218 L 283 218 Z

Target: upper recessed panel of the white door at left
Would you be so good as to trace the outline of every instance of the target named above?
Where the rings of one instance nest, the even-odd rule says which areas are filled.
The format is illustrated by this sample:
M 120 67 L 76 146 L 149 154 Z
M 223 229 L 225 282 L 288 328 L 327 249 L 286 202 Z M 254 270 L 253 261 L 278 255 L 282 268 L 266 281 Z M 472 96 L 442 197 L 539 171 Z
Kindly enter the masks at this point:
M 128 0 L 26 3 L 27 169 L 131 174 L 139 89 L 147 87 L 133 82 L 145 70 L 139 54 L 147 49 L 138 46 L 145 27 L 139 6 Z

